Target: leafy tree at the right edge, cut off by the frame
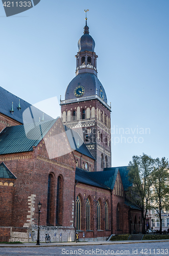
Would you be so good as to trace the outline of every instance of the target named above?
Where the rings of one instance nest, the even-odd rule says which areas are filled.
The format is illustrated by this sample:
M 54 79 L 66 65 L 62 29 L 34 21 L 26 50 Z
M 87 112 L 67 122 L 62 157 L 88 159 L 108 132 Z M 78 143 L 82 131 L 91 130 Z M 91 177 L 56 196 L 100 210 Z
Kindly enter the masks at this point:
M 152 207 L 157 210 L 160 222 L 160 234 L 162 233 L 162 209 L 169 209 L 169 167 L 168 161 L 163 157 L 155 161 L 154 171 L 152 173 L 153 195 Z

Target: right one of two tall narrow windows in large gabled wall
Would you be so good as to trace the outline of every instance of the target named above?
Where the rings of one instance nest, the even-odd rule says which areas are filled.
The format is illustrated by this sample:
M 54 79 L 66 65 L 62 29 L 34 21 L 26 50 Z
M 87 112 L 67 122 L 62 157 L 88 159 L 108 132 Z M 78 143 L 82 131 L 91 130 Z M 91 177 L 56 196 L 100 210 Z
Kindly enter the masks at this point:
M 56 195 L 56 225 L 62 225 L 62 195 L 63 194 L 63 180 L 58 176 L 57 195 Z

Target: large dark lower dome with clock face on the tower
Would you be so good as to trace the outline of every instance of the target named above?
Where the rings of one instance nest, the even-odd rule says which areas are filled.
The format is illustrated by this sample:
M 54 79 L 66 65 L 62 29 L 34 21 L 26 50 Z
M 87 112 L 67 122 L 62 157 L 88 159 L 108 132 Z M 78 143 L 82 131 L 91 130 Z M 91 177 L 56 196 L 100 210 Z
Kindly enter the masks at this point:
M 82 97 L 96 94 L 101 97 L 100 92 L 102 92 L 104 97 L 102 99 L 107 103 L 107 96 L 102 83 L 99 81 L 98 77 L 91 73 L 80 73 L 73 80 L 71 80 L 65 92 L 65 100 L 76 98 L 74 91 L 78 86 L 84 87 L 85 92 Z

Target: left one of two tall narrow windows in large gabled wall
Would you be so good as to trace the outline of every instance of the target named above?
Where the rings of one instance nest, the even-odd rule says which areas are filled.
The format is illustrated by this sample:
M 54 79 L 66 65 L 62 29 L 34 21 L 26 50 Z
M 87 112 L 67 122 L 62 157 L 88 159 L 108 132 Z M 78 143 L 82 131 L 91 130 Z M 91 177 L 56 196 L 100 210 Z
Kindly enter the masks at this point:
M 52 174 L 48 176 L 46 223 L 54 224 L 54 177 Z

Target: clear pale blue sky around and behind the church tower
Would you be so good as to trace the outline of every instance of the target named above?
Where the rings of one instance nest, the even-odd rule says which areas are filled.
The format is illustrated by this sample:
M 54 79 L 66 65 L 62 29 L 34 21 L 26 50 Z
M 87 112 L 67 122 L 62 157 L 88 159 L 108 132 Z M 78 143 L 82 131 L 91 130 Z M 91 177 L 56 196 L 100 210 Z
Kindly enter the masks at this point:
M 168 0 L 41 0 L 11 17 L 0 4 L 0 86 L 32 104 L 64 99 L 84 9 L 112 106 L 112 166 L 142 153 L 168 158 Z

